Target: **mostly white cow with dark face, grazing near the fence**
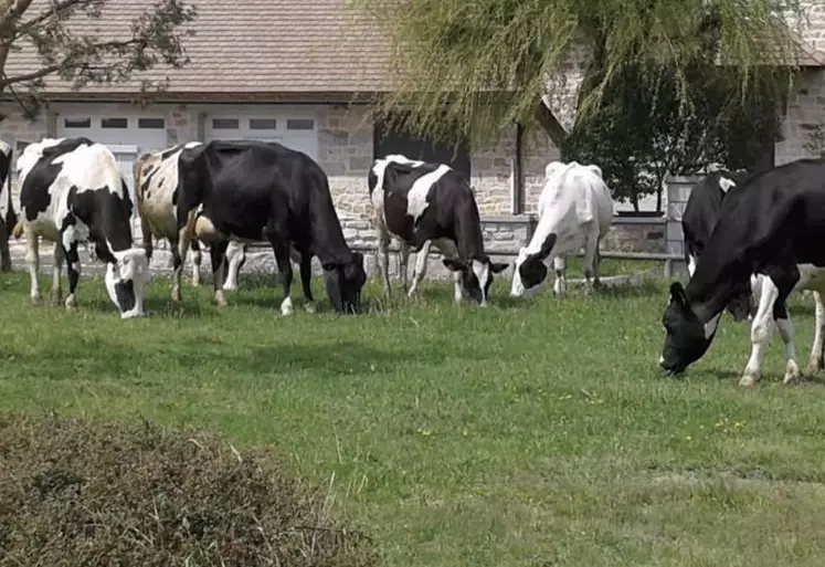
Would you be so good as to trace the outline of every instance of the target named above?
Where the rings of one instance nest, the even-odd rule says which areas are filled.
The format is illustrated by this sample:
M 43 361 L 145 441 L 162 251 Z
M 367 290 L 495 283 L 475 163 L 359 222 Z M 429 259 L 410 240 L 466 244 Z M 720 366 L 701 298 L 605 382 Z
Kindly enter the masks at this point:
M 548 264 L 556 269 L 556 295 L 563 294 L 563 256 L 584 246 L 586 292 L 599 284 L 599 243 L 613 222 L 613 198 L 597 166 L 551 161 L 539 196 L 539 223 L 530 243 L 519 250 L 510 295 L 530 297 L 547 281 Z M 593 281 L 591 281 L 591 277 Z

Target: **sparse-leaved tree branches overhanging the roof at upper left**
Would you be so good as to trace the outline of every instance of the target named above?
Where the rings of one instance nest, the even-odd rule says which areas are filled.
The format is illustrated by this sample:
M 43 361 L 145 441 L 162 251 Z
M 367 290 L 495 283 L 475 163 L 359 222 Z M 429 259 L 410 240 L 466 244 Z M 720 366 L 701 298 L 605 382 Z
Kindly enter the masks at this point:
M 147 1 L 130 24 L 121 30 L 118 22 L 113 33 L 106 18 L 123 7 L 109 4 L 109 0 L 0 0 L 0 95 L 33 117 L 49 77 L 82 88 L 127 81 L 158 65 L 174 69 L 188 63 L 181 25 L 197 17 L 194 7 L 183 0 Z M 77 25 L 84 20 L 97 20 L 98 25 Z M 7 72 L 9 59 L 20 52 L 27 53 L 30 67 Z M 159 91 L 166 81 L 142 80 L 140 85 L 142 91 Z M 11 208 L 0 218 L 0 271 L 11 266 L 7 223 L 13 224 Z

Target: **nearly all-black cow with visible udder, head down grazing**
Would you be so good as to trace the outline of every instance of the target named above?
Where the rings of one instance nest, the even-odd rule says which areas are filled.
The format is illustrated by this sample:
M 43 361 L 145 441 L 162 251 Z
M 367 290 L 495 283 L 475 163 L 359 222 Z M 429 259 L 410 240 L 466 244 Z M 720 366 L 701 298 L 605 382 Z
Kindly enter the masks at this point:
M 178 171 L 179 250 L 186 254 L 191 238 L 210 246 L 219 306 L 226 305 L 220 285 L 233 239 L 272 244 L 283 279 L 284 315 L 293 312 L 290 245 L 299 256 L 308 311 L 315 309 L 309 286 L 314 255 L 320 260 L 335 309 L 360 311 L 367 281 L 363 255 L 347 245 L 327 175 L 309 156 L 274 141 L 218 140 L 184 149 Z

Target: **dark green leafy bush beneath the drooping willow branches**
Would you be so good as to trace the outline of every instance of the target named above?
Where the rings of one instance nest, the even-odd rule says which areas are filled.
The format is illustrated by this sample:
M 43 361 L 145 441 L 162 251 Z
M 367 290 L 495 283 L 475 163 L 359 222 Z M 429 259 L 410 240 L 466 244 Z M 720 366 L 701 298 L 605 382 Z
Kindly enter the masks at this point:
M 660 193 L 668 174 L 695 175 L 711 164 L 752 169 L 779 139 L 776 93 L 786 76 L 763 71 L 758 80 L 740 101 L 726 67 L 694 65 L 686 81 L 695 94 L 685 108 L 674 72 L 645 83 L 639 69 L 627 65 L 607 85 L 603 104 L 577 122 L 562 159 L 599 164 L 614 197 L 634 204 Z

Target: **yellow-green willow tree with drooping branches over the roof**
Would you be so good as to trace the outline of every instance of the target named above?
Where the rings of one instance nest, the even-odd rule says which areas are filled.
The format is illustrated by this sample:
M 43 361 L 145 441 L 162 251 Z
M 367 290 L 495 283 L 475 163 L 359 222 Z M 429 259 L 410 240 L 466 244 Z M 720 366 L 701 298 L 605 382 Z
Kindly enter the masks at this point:
M 643 81 L 671 72 L 680 106 L 690 108 L 687 71 L 706 56 L 708 38 L 740 99 L 765 76 L 786 88 L 803 17 L 798 0 L 350 2 L 374 17 L 392 48 L 389 88 L 376 102 L 380 118 L 444 140 L 540 125 L 557 145 L 569 125 L 553 102 L 572 87 L 574 115 L 590 116 L 628 64 Z M 565 84 L 578 57 L 582 80 Z

